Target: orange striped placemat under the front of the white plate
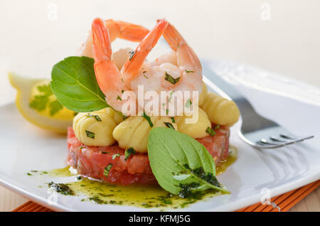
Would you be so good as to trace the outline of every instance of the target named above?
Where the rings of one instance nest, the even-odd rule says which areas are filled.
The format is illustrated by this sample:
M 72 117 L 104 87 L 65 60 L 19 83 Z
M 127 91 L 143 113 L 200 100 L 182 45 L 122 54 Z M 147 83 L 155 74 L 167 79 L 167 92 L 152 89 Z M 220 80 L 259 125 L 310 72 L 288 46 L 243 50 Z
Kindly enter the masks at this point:
M 299 203 L 299 201 L 311 193 L 312 190 L 318 188 L 319 185 L 320 180 L 272 198 L 270 200 L 271 205 L 262 205 L 261 203 L 257 203 L 237 210 L 236 212 L 277 212 L 279 210 L 285 212 Z M 24 203 L 18 208 L 12 210 L 12 212 L 53 212 L 53 210 L 45 208 L 42 205 L 38 205 L 37 203 L 33 203 L 32 201 L 28 201 L 27 203 Z

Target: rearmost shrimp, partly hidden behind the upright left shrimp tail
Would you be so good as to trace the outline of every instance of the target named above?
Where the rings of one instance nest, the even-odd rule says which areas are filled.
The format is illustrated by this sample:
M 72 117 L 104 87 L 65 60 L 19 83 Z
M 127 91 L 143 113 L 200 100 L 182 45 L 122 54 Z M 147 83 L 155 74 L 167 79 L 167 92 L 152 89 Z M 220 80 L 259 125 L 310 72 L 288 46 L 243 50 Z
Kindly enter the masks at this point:
M 143 26 L 124 21 L 114 21 L 112 19 L 105 20 L 105 27 L 109 31 L 111 42 L 117 38 L 122 38 L 127 41 L 140 42 L 144 36 L 149 33 L 149 30 Z M 80 46 L 78 54 L 93 58 L 91 31 L 89 31 L 87 34 L 87 40 Z

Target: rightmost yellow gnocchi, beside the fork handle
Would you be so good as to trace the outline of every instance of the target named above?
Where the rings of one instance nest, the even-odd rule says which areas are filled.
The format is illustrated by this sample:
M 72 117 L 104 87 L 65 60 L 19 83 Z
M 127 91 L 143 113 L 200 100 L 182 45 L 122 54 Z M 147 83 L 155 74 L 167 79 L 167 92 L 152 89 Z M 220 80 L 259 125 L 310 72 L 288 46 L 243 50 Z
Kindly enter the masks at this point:
M 206 95 L 201 108 L 214 124 L 232 126 L 238 122 L 240 111 L 235 102 L 210 92 Z

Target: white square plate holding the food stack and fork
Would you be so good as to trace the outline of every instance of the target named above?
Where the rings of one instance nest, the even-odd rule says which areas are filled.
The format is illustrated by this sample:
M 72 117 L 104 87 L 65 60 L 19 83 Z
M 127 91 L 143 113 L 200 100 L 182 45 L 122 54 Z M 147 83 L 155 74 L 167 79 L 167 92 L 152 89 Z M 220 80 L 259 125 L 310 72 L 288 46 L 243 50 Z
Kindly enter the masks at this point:
M 240 122 L 231 129 L 230 144 L 238 149 L 238 160 L 218 180 L 231 191 L 200 201 L 183 211 L 232 211 L 260 202 L 262 189 L 275 196 L 320 178 L 320 89 L 245 65 L 203 62 L 204 74 L 214 70 L 252 102 L 257 112 L 273 119 L 297 135 L 314 139 L 282 149 L 259 150 L 240 140 Z M 214 80 L 212 81 L 214 82 Z M 26 122 L 14 104 L 0 107 L 0 183 L 53 210 L 145 211 L 149 209 L 81 202 L 80 196 L 58 196 L 49 205 L 48 189 L 39 188 L 50 176 L 26 176 L 31 170 L 66 166 L 66 137 L 50 134 Z M 63 179 L 60 179 L 63 180 Z M 267 195 L 267 194 L 264 194 Z M 265 196 L 264 196 L 265 197 Z

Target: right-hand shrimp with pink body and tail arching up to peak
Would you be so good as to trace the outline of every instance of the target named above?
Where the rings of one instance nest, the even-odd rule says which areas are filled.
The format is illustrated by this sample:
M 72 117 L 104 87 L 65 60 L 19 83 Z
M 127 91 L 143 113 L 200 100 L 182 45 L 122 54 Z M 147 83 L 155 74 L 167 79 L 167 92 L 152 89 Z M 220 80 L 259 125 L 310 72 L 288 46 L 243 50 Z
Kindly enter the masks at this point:
M 139 85 L 144 85 L 144 91 L 197 91 L 198 95 L 190 98 L 192 103 L 197 104 L 198 96 L 202 91 L 202 67 L 200 60 L 171 23 L 168 23 L 163 36 L 167 43 L 169 43 L 172 51 L 157 58 L 154 62 L 149 63 L 145 60 L 142 68 L 139 69 L 137 75 L 131 80 L 130 88 L 136 95 Z M 122 74 L 125 72 L 126 65 L 122 68 Z M 166 75 L 170 75 L 174 80 L 178 80 L 178 82 L 169 82 L 166 79 Z M 177 98 L 183 104 L 189 99 L 184 97 L 181 99 L 179 96 Z M 145 105 L 145 102 L 143 104 Z M 160 104 L 164 103 L 161 102 Z M 170 114 L 170 116 L 180 113 L 175 106 L 174 113 Z

